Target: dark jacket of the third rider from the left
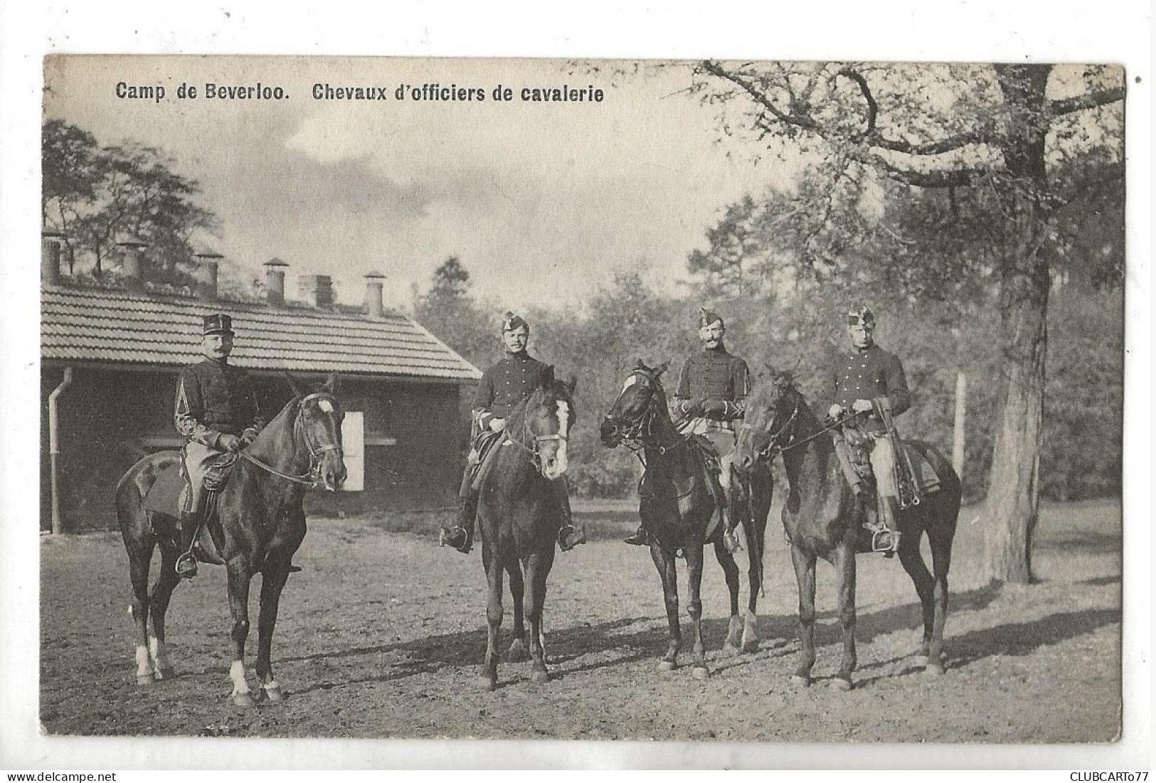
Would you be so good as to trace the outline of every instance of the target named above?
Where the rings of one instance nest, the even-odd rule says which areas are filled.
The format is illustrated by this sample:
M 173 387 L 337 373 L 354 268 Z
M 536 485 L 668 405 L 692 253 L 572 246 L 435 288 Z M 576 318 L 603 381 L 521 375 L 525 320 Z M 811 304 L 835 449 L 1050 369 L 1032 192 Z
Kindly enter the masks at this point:
M 704 349 L 682 365 L 674 393 L 675 417 L 701 416 L 725 430 L 733 430 L 742 418 L 750 394 L 750 371 L 743 359 L 718 348 Z M 696 403 L 705 401 L 698 410 Z M 692 410 L 694 409 L 694 410 Z

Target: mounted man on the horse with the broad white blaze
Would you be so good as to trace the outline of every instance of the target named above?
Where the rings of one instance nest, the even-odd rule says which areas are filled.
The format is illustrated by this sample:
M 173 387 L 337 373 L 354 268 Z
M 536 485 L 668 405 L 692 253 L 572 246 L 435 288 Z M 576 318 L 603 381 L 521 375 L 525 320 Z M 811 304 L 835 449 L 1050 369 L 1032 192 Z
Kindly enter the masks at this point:
M 458 494 L 461 509 L 458 521 L 442 528 L 440 544 L 449 544 L 459 552 L 467 553 L 474 543 L 474 519 L 477 514 L 477 493 L 474 490 L 474 478 L 491 447 L 499 440 L 505 430 L 506 417 L 520 403 L 525 402 L 538 388 L 542 373 L 548 365 L 539 361 L 526 351 L 529 343 L 529 325 L 520 315 L 506 312 L 502 318 L 502 348 L 504 356 L 492 367 L 482 373 L 474 391 L 473 410 L 473 448 L 466 464 L 466 475 L 461 479 L 461 491 Z M 570 497 L 565 478 L 553 483 L 562 510 L 562 529 L 558 530 L 558 546 L 562 551 L 586 543 L 586 531 L 583 525 L 575 527 L 570 516 Z

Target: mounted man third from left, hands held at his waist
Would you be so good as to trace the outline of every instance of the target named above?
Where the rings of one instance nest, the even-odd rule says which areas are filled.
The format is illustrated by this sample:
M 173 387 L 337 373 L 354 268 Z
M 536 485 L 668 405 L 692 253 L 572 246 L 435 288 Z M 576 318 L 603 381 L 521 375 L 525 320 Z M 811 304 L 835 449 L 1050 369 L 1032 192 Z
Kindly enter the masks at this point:
M 703 435 L 714 447 L 721 468 L 719 480 L 729 495 L 731 456 L 736 423 L 742 418 L 743 404 L 750 393 L 750 371 L 743 359 L 726 350 L 722 318 L 705 307 L 699 311 L 698 338 L 703 350 L 682 365 L 670 412 L 681 433 Z M 732 552 L 739 549 L 734 525 L 735 521 L 728 516 L 726 545 Z M 650 536 L 639 525 L 627 543 L 647 545 Z

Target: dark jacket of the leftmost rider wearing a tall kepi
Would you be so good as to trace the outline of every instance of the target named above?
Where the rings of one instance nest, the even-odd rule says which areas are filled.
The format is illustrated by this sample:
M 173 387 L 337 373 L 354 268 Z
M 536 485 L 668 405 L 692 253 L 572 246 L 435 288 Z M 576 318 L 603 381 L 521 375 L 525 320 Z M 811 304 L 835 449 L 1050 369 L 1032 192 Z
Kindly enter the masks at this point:
M 245 371 L 212 359 L 180 371 L 173 420 L 177 432 L 209 448 L 220 448 L 222 434 L 251 441 L 265 426 Z

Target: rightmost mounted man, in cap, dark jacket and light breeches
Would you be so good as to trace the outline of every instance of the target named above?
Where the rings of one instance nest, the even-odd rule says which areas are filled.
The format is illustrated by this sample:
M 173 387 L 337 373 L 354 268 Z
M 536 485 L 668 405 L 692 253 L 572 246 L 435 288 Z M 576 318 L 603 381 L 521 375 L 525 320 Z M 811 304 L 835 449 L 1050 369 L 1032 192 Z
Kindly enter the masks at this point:
M 835 366 L 835 403 L 828 415 L 838 418 L 847 410 L 859 415 L 855 425 L 866 435 L 883 528 L 879 534 L 879 549 L 891 554 L 899 545 L 896 527 L 899 501 L 895 450 L 890 439 L 884 437 L 887 427 L 880 415 L 890 411 L 891 416 L 898 416 L 911 408 L 911 393 L 898 357 L 875 344 L 875 314 L 870 310 L 862 305 L 850 308 L 847 336 L 851 352 L 840 357 Z

